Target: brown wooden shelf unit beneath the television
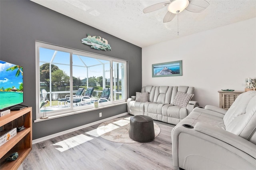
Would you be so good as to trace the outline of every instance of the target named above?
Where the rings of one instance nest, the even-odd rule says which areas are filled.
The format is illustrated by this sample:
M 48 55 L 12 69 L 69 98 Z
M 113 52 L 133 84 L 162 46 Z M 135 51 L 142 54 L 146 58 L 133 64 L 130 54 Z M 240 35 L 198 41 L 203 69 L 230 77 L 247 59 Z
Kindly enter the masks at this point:
M 16 127 L 15 119 L 24 115 L 25 130 L 17 132 L 17 134 L 0 146 L 0 169 L 1 170 L 16 170 L 22 164 L 26 156 L 32 150 L 32 108 L 28 107 L 20 111 L 11 111 L 10 114 L 0 117 L 0 127 L 8 128 Z M 15 126 L 14 126 L 15 125 Z M 19 156 L 16 160 L 6 162 L 4 159 L 13 152 L 18 152 Z

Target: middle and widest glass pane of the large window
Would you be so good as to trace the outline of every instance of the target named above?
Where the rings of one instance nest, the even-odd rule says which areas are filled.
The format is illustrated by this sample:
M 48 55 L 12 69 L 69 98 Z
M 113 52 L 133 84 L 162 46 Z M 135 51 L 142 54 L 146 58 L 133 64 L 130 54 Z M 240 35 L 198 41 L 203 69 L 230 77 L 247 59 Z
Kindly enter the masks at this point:
M 73 90 L 84 88 L 81 96 L 75 96 L 74 106 L 82 107 L 92 105 L 94 101 L 100 98 L 108 98 L 103 96 L 102 91 L 106 86 L 106 79 L 110 77 L 110 61 L 88 57 L 84 55 L 72 55 L 73 59 Z M 105 81 L 103 81 L 105 80 Z M 87 91 L 88 88 L 94 88 L 92 95 Z M 101 102 L 108 99 L 100 99 Z

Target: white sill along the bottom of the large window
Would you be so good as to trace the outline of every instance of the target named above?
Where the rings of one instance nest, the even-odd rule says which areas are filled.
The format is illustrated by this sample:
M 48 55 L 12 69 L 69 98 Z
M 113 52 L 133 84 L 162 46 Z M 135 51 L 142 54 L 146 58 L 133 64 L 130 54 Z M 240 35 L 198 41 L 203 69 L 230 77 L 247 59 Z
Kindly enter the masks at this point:
M 85 110 L 80 110 L 80 111 L 72 111 L 72 112 L 69 112 L 69 113 L 63 113 L 63 114 L 60 114 L 60 115 L 48 116 L 47 119 L 36 119 L 36 120 L 34 120 L 34 123 L 47 121 L 47 120 L 50 120 L 50 119 L 56 119 L 56 118 L 60 118 L 60 117 L 65 117 L 65 116 L 70 116 L 70 115 L 75 115 L 75 114 L 80 114 L 80 113 L 85 113 L 85 112 L 90 112 L 90 111 L 95 111 L 95 110 L 103 109 L 103 108 L 106 108 L 106 107 L 113 107 L 113 106 L 117 106 L 117 105 L 123 105 L 123 104 L 126 104 L 126 103 L 127 102 L 115 103 L 115 104 L 112 104 L 112 105 L 100 106 L 100 107 L 97 107 L 97 108 L 90 108 L 90 109 L 85 109 Z

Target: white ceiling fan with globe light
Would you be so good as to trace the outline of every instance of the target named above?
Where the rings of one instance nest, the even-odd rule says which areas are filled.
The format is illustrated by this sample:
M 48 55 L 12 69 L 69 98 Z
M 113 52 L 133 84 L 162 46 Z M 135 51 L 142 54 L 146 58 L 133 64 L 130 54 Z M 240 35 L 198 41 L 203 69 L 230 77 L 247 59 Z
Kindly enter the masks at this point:
M 153 12 L 168 6 L 168 11 L 164 16 L 163 22 L 170 22 L 176 14 L 182 12 L 184 9 L 190 12 L 202 12 L 205 10 L 209 3 L 206 0 L 170 0 L 169 2 L 160 2 L 152 6 L 144 8 L 143 12 Z

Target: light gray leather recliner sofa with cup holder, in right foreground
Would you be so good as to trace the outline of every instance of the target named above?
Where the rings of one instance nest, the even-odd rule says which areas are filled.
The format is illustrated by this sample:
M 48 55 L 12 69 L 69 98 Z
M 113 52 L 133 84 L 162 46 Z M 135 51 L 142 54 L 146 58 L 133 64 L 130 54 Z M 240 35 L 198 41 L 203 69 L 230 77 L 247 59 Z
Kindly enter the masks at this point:
M 227 110 L 196 107 L 172 130 L 172 157 L 185 170 L 256 169 L 256 91 Z

